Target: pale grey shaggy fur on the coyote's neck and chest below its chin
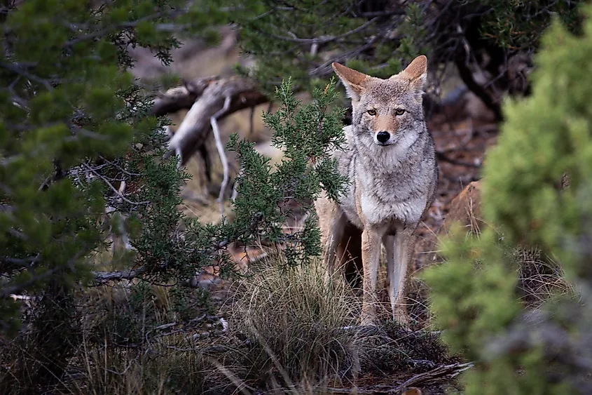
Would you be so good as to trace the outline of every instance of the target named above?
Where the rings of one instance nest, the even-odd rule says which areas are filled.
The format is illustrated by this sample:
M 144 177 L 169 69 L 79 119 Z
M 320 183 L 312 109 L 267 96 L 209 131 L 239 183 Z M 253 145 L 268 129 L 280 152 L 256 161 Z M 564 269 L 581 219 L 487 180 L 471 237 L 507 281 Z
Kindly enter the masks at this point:
M 352 133 L 351 126 L 345 130 Z M 434 189 L 432 163 L 420 160 L 429 139 L 425 133 L 408 147 L 376 146 L 375 152 L 363 152 L 348 139 L 349 149 L 336 152 L 340 173 L 351 180 L 340 208 L 353 225 L 393 234 L 420 221 Z

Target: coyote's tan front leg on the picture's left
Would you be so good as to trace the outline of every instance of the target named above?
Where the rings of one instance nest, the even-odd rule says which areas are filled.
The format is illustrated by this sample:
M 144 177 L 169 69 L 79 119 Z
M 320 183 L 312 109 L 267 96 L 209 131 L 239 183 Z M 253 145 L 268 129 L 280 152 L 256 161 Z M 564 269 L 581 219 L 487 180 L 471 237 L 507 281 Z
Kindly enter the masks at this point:
M 364 267 L 364 295 L 362 297 L 362 326 L 376 323 L 376 281 L 380 262 L 381 237 L 375 229 L 362 232 L 362 265 Z

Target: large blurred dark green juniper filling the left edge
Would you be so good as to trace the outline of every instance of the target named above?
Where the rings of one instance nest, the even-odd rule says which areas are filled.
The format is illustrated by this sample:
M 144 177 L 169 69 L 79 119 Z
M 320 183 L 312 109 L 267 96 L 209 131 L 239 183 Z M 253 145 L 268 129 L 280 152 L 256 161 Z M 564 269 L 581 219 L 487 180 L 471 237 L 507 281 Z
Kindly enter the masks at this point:
M 147 116 L 151 100 L 122 71 L 132 65 L 125 48 L 149 46 L 169 62 L 177 39 L 159 24 L 175 18 L 198 33 L 222 20 L 205 2 L 19 3 L 6 2 L 2 14 L 1 332 L 18 323 L 9 295 L 90 279 L 109 217 L 124 214 L 136 230 L 128 264 L 186 264 L 175 236 L 186 175 L 160 159 L 163 122 Z

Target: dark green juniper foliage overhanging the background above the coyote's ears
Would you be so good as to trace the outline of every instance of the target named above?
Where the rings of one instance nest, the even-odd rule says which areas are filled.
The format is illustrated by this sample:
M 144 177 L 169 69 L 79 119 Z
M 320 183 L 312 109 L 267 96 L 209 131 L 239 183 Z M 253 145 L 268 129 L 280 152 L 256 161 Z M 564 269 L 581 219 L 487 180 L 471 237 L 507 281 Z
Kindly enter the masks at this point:
M 332 74 L 331 62 L 387 78 L 415 56 L 426 54 L 434 86 L 446 78 L 443 65 L 454 65 L 465 76 L 469 89 L 479 91 L 481 97 L 479 84 L 468 81 L 470 69 L 486 69 L 492 84 L 500 91 L 507 90 L 516 78 L 508 71 L 511 58 L 535 53 L 551 15 L 559 15 L 577 31 L 577 6 L 581 3 L 412 0 L 401 5 L 394 0 L 233 0 L 224 4 L 233 7 L 230 19 L 240 27 L 242 50 L 257 60 L 256 67 L 238 70 L 259 81 L 268 93 L 284 76 L 292 76 L 298 90 L 322 87 Z

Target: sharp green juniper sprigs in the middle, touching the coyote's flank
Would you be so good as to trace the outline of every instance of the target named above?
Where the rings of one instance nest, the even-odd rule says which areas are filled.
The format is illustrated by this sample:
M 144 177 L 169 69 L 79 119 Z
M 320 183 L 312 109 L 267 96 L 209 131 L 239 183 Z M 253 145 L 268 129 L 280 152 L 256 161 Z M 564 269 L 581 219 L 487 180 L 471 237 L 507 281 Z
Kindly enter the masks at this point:
M 261 236 L 275 243 L 287 243 L 289 263 L 308 261 L 321 250 L 319 230 L 312 215 L 301 232 L 282 233 L 280 225 L 289 214 L 286 203 L 294 200 L 310 210 L 322 189 L 331 199 L 337 199 L 347 181 L 338 173 L 336 159 L 330 156 L 334 149 L 343 149 L 345 142 L 340 121 L 345 109 L 330 107 L 337 97 L 335 86 L 331 79 L 324 90 L 315 89 L 310 105 L 301 105 L 294 97 L 290 79 L 276 89 L 281 107 L 275 114 L 263 116 L 266 125 L 274 130 L 273 145 L 284 151 L 284 159 L 275 171 L 271 171 L 270 159 L 253 149 L 253 143 L 239 142 L 238 135 L 228 142 L 242 166 L 231 232 L 240 235 L 238 240 L 244 243 Z

